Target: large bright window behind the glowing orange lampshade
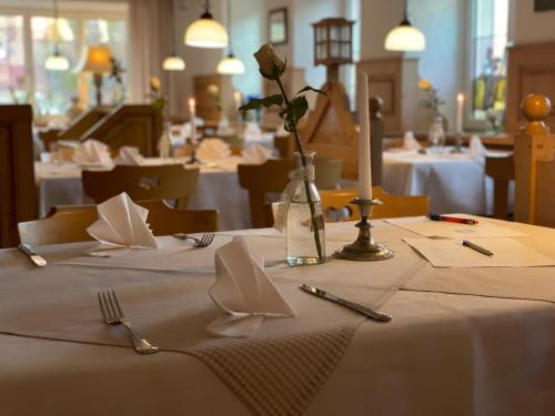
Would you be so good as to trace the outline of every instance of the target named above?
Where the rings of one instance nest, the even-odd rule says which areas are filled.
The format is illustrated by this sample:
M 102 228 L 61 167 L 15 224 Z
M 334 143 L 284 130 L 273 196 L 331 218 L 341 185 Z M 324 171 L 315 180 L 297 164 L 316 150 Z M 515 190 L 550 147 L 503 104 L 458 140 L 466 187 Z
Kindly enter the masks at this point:
M 54 22 L 51 9 L 20 7 L 0 8 L 0 103 L 33 103 L 40 115 L 63 114 L 71 98 L 79 97 L 82 105 L 94 103 L 92 77 L 75 73 L 84 47 L 104 43 L 122 68 L 128 68 L 127 6 L 108 6 L 113 10 L 60 10 Z M 68 71 L 48 71 L 47 58 L 53 53 L 58 39 L 60 53 L 70 63 Z M 124 75 L 124 85 L 125 75 Z M 121 102 L 125 91 L 114 88 L 114 81 L 104 77 L 104 103 Z

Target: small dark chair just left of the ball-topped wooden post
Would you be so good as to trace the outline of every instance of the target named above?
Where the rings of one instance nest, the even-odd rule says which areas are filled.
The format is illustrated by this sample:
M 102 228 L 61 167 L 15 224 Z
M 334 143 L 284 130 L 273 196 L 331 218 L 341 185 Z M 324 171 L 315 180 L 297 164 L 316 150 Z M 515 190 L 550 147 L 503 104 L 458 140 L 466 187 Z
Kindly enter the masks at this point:
M 485 173 L 493 179 L 493 216 L 508 219 L 508 184 L 515 179 L 515 160 L 511 154 L 504 158 L 486 156 Z

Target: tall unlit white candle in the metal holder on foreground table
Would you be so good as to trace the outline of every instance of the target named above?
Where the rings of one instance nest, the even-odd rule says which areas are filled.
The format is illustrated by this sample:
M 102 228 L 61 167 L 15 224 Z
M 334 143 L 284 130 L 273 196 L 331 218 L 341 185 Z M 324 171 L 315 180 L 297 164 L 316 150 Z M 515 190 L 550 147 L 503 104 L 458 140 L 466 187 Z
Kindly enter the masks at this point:
M 372 172 L 370 166 L 370 113 L 369 113 L 369 78 L 366 73 L 359 75 L 359 196 L 372 200 Z

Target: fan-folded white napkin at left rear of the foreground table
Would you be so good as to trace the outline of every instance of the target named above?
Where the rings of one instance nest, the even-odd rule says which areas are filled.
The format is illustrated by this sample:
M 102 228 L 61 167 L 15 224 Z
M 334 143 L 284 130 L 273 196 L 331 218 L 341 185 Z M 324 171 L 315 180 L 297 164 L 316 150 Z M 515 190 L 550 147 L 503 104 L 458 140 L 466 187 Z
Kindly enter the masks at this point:
M 147 224 L 149 210 L 137 205 L 123 192 L 98 205 L 99 219 L 87 232 L 101 245 L 92 254 L 111 255 L 130 248 L 157 248 L 158 242 Z M 112 253 L 113 251 L 113 253 Z

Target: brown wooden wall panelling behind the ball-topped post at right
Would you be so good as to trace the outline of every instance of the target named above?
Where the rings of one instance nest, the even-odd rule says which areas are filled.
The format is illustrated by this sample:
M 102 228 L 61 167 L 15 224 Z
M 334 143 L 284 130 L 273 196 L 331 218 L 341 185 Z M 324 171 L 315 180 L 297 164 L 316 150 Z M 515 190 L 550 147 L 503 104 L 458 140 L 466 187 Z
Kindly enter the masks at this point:
M 505 126 L 507 132 L 517 133 L 526 123 L 519 111 L 524 97 L 542 94 L 555 100 L 555 42 L 509 47 L 507 53 Z M 555 124 L 555 109 L 546 122 Z

